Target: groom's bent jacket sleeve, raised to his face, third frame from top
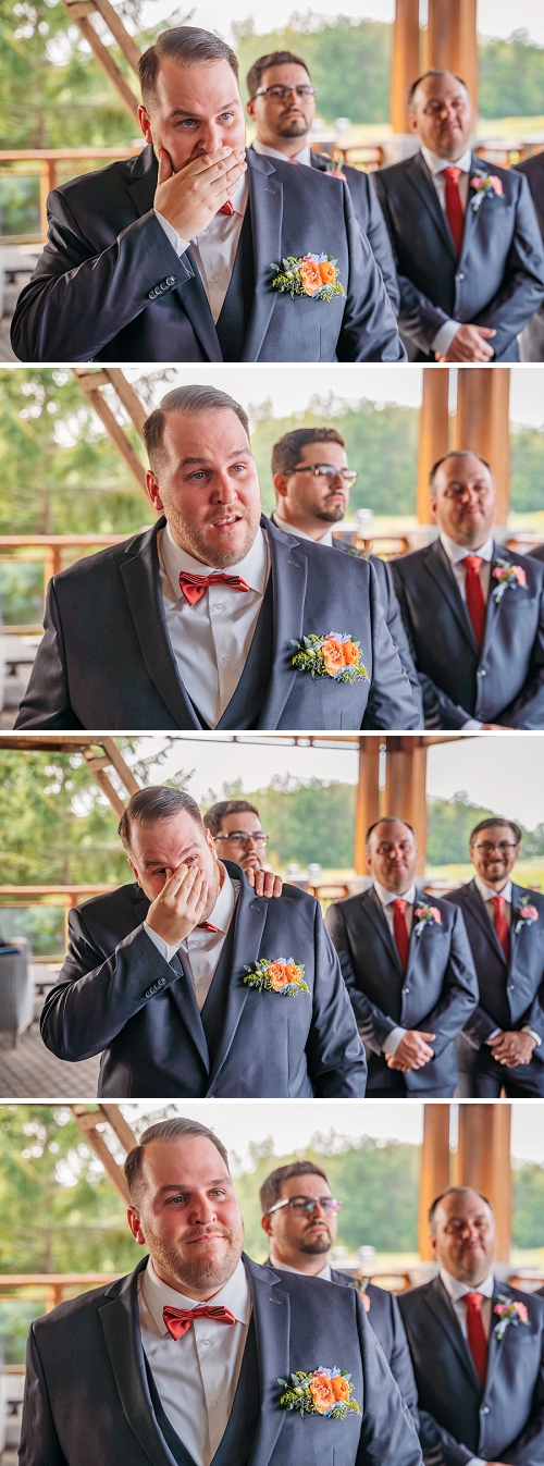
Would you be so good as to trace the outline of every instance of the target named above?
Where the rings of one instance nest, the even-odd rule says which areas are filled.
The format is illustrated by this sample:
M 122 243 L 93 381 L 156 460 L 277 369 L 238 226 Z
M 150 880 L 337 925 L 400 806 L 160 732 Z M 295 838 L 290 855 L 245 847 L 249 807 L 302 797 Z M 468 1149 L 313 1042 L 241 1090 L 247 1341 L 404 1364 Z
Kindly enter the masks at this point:
M 129 1019 L 176 978 L 142 925 L 104 960 L 81 912 L 70 912 L 67 957 L 41 1013 L 45 1048 L 69 1061 L 101 1054 Z

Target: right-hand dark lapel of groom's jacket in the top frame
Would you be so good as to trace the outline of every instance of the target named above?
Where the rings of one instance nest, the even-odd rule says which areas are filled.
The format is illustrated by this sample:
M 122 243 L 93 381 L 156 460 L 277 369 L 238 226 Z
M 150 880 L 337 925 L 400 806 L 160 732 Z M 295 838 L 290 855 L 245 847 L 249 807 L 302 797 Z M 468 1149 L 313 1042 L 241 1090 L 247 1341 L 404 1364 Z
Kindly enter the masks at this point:
M 273 158 L 246 151 L 251 229 L 254 239 L 255 293 L 243 342 L 242 361 L 255 362 L 276 306 L 271 264 L 282 259 L 283 183 Z

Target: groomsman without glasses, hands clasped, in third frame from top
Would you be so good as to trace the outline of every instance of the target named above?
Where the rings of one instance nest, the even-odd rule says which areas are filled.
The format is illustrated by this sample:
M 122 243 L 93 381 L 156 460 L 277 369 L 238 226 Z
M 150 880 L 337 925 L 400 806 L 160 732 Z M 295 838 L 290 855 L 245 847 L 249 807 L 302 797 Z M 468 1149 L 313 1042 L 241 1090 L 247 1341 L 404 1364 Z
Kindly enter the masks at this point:
M 416 883 L 412 825 L 386 815 L 367 831 L 372 884 L 326 915 L 358 1029 L 372 1100 L 455 1094 L 455 1038 L 478 1001 L 462 912 Z

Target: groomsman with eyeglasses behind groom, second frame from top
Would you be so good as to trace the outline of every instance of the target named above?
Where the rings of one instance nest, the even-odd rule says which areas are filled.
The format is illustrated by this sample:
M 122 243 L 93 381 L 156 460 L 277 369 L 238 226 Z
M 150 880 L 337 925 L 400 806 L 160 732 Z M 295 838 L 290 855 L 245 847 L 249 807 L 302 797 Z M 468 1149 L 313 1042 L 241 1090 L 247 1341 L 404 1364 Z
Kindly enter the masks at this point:
M 340 535 L 333 534 L 348 509 L 349 494 L 358 475 L 349 468 L 346 441 L 337 428 L 295 428 L 273 447 L 271 472 L 276 488 L 276 509 L 271 520 L 276 529 L 296 534 L 301 539 L 330 550 L 348 551 Z M 348 551 L 349 553 L 349 551 Z M 353 551 L 352 551 L 353 553 Z M 389 566 L 380 556 L 370 554 L 375 572 L 384 619 L 397 648 L 400 664 L 409 679 L 413 702 L 422 726 L 422 696 L 403 627 L 399 601 Z

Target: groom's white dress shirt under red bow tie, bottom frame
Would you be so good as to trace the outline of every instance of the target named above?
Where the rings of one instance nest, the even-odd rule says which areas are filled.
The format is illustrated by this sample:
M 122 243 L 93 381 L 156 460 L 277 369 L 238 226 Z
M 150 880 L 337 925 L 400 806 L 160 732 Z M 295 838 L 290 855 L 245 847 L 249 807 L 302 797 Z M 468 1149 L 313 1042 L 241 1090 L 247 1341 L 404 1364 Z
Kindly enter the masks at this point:
M 167 1287 L 151 1258 L 138 1280 L 139 1327 L 158 1397 L 176 1434 L 196 1466 L 210 1466 L 224 1435 L 242 1368 L 251 1319 L 251 1293 L 243 1262 L 210 1299 L 229 1308 L 236 1324 L 196 1318 L 182 1338 L 172 1338 L 163 1308 L 202 1308 Z

